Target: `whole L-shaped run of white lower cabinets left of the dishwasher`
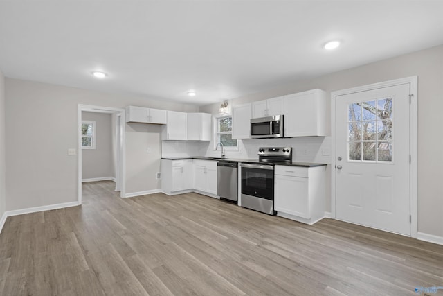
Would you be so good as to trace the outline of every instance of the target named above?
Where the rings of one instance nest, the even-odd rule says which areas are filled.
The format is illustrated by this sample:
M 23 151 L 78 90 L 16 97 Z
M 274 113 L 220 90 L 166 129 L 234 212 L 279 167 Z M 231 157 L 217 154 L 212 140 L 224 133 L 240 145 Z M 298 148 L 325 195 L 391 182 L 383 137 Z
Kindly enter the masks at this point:
M 217 161 L 161 159 L 161 190 L 168 195 L 197 191 L 217 197 Z

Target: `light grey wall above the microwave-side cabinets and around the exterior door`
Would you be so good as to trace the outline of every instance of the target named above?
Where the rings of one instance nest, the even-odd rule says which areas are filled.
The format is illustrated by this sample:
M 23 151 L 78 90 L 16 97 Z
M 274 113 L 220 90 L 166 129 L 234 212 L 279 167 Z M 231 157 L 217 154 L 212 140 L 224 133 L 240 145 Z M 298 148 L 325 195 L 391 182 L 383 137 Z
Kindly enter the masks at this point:
M 325 90 L 330 97 L 330 92 L 335 90 L 408 76 L 418 76 L 418 230 L 442 237 L 443 46 L 282 85 L 267 92 L 234 99 L 233 105 L 315 88 Z M 219 104 L 200 107 L 199 112 L 218 112 L 218 107 Z M 330 110 L 330 101 L 328 110 Z M 306 140 L 309 143 L 310 140 Z M 244 143 L 248 141 L 251 140 L 244 140 Z M 329 173 L 332 173 L 330 166 Z M 329 196 L 327 211 L 330 211 L 330 204 Z

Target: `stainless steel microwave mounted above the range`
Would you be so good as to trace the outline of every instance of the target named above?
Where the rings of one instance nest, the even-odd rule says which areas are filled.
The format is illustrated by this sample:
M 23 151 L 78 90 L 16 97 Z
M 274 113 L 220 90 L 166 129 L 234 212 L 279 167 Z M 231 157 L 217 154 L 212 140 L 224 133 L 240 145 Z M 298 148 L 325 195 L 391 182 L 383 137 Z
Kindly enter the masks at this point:
M 284 115 L 251 119 L 251 138 L 284 137 Z

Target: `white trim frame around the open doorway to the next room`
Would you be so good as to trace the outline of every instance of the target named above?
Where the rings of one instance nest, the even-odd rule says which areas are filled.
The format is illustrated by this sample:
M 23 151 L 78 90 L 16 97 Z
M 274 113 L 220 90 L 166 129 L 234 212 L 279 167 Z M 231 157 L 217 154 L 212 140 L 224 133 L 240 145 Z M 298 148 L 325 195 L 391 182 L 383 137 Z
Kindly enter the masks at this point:
M 125 197 L 125 109 L 114 107 L 101 107 L 78 104 L 78 204 L 82 204 L 82 111 L 116 114 L 117 153 L 119 161 L 116 162 L 116 190 L 120 189 L 120 198 Z M 120 119 L 120 121 L 118 120 Z

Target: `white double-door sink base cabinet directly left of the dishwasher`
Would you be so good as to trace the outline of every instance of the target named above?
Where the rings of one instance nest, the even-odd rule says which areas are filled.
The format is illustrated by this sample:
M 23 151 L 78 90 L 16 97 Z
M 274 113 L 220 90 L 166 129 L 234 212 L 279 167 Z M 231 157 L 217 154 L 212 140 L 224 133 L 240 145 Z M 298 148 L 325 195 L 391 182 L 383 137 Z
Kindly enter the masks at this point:
M 194 159 L 194 189 L 217 195 L 217 161 Z

